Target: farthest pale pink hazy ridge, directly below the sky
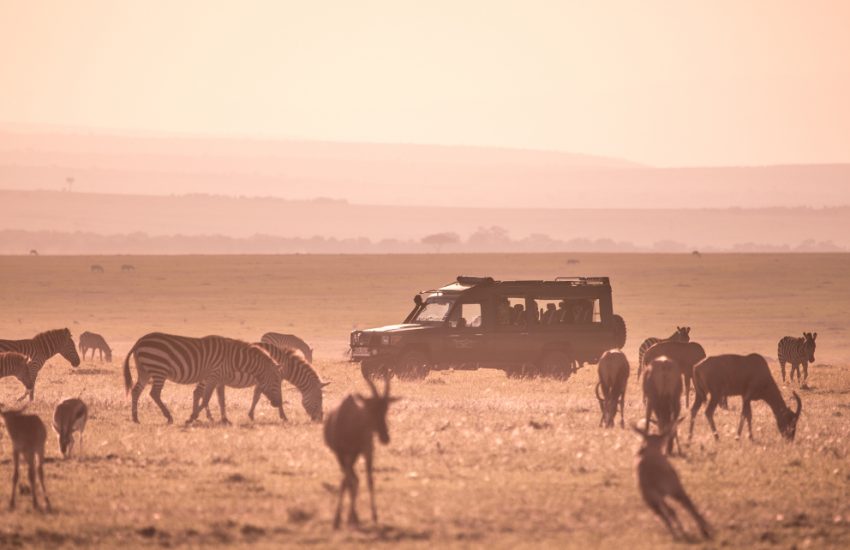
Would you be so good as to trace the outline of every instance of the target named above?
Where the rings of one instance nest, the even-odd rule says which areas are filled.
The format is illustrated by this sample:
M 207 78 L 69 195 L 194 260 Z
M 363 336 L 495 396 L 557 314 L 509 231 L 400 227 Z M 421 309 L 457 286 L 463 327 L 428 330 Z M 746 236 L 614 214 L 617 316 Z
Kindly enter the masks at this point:
M 646 209 L 838 206 L 848 182 L 850 165 L 665 169 L 486 147 L 0 130 L 6 189 Z

